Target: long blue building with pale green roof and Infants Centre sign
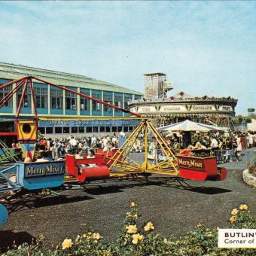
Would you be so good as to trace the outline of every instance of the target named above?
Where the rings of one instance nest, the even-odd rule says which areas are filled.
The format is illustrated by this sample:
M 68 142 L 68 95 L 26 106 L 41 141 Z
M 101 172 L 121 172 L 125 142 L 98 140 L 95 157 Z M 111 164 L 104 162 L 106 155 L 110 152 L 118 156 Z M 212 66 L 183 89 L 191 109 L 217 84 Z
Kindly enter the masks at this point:
M 74 75 L 46 69 L 36 69 L 0 62 L 0 84 L 6 84 L 24 76 L 35 76 L 53 84 L 84 93 L 96 99 L 111 103 L 121 108 L 128 108 L 128 102 L 138 100 L 142 93 L 134 90 L 99 81 L 84 75 Z M 12 90 L 14 86 L 0 90 L 0 100 Z M 62 136 L 62 134 L 111 133 L 121 130 L 132 131 L 139 120 L 130 114 L 115 110 L 106 105 L 85 99 L 81 96 L 60 90 L 49 84 L 33 83 L 36 106 L 38 111 L 39 130 L 42 134 Z M 0 108 L 2 122 L 14 120 L 17 113 L 22 91 L 18 90 L 5 106 Z M 32 96 L 26 90 L 20 117 L 34 117 Z M 7 124 L 5 125 L 8 126 Z M 10 128 L 10 127 L 9 127 Z M 11 128 L 9 129 L 11 130 Z M 1 133 L 2 131 L 0 131 Z

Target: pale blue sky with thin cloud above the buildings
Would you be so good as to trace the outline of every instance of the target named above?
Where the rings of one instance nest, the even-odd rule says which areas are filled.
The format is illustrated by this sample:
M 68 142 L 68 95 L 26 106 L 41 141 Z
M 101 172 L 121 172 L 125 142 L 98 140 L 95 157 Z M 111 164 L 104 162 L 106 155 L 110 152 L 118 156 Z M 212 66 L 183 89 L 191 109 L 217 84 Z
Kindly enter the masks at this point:
M 231 96 L 256 109 L 256 2 L 0 2 L 0 62 L 87 75 L 143 92 Z

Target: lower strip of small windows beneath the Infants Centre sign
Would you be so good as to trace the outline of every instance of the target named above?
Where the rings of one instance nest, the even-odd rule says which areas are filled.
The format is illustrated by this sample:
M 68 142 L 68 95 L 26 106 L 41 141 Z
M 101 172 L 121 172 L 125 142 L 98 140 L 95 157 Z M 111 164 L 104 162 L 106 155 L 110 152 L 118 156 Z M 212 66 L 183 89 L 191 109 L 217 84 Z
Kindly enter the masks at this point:
M 134 126 L 39 127 L 41 134 L 132 132 Z

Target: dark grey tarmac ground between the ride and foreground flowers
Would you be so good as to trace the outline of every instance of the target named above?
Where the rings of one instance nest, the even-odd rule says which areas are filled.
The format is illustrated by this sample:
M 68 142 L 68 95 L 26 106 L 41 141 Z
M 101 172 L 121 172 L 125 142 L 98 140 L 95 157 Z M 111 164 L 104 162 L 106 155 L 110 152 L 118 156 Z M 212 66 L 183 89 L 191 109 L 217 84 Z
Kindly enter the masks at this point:
M 139 205 L 139 224 L 154 223 L 163 236 L 180 236 L 200 221 L 210 227 L 229 227 L 230 211 L 247 204 L 256 212 L 255 192 L 242 181 L 242 170 L 228 171 L 224 181 L 187 181 L 183 187 L 172 178 L 145 181 L 108 181 L 87 186 L 87 190 L 66 190 L 67 197 L 39 199 L 29 196 L 20 203 L 0 231 L 0 247 L 13 239 L 21 242 L 43 233 L 46 242 L 93 229 L 105 239 L 114 239 L 130 203 Z M 102 187 L 99 187 L 102 185 Z

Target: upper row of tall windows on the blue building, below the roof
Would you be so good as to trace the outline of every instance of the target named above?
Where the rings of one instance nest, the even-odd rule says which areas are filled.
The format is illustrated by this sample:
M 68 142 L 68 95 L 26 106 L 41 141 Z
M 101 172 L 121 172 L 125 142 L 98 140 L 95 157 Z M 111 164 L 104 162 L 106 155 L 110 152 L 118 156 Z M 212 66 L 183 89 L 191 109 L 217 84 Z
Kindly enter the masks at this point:
M 10 90 L 12 89 L 11 86 L 5 87 L 0 90 L 0 99 L 5 97 Z M 20 99 L 22 97 L 23 90 L 17 90 L 17 107 L 20 104 Z M 47 108 L 48 107 L 48 89 L 47 87 L 34 87 L 34 93 L 35 93 L 35 102 L 37 108 Z M 84 92 L 82 92 L 84 93 Z M 84 93 L 87 96 L 90 96 L 90 93 Z M 123 93 L 122 93 L 123 94 Z M 109 104 L 114 104 L 117 107 L 120 108 L 128 108 L 128 102 L 133 99 L 133 95 L 125 95 L 124 96 L 124 106 L 123 106 L 123 96 L 117 93 L 114 93 L 114 102 L 113 102 L 113 93 L 111 92 L 103 92 L 102 97 L 102 91 L 96 91 L 93 90 L 92 93 L 93 98 L 103 100 L 105 102 L 108 102 Z M 80 108 L 81 111 L 90 111 L 90 99 L 85 99 L 83 97 L 80 97 Z M 140 96 L 136 95 L 135 99 L 139 99 Z M 77 110 L 78 109 L 78 96 L 74 93 L 65 92 L 65 101 L 66 101 L 66 109 L 70 110 Z M 13 101 L 10 99 L 8 102 L 5 102 L 5 106 L 12 107 Z M 27 87 L 26 92 L 23 97 L 22 102 L 23 108 L 31 108 L 32 107 L 32 100 L 31 100 L 31 91 L 30 88 Z M 50 88 L 50 108 L 56 108 L 56 109 L 62 109 L 63 108 L 63 91 L 56 89 L 56 88 Z M 102 104 L 99 102 L 92 102 L 92 110 L 93 111 L 102 111 Z M 103 105 L 103 111 L 112 112 L 112 108 L 108 107 L 108 105 Z

